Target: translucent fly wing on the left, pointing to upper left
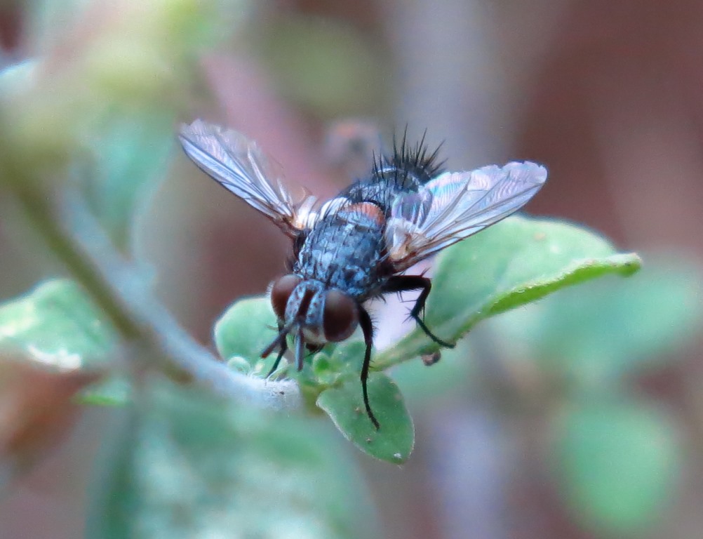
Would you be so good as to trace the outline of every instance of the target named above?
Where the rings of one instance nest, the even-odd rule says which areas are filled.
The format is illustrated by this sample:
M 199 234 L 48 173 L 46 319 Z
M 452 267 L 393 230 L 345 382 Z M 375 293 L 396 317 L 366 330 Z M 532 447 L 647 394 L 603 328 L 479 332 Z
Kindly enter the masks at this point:
M 243 134 L 195 120 L 181 125 L 179 139 L 200 170 L 269 217 L 288 236 L 295 237 L 314 224 L 316 198 L 307 196 L 293 203 L 264 153 Z

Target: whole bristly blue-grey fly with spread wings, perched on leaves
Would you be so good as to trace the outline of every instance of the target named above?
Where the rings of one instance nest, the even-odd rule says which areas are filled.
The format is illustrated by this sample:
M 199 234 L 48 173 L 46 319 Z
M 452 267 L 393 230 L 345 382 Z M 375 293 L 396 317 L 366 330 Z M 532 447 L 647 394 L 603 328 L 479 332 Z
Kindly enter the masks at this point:
M 318 205 L 306 196 L 294 203 L 257 145 L 238 132 L 196 120 L 181 127 L 179 138 L 195 165 L 293 240 L 292 272 L 271 286 L 278 335 L 262 351 L 266 357 L 278 348 L 271 372 L 288 349 L 288 334 L 300 370 L 305 348 L 344 341 L 361 326 L 366 343 L 361 390 L 376 429 L 366 388 L 373 324 L 364 303 L 385 293 L 420 291 L 411 317 L 434 342 L 453 346 L 432 334 L 420 317 L 430 279 L 403 272 L 508 217 L 547 179 L 544 167 L 529 162 L 443 172 L 437 151 L 428 152 L 423 141 L 411 148 L 404 137 L 335 198 Z

